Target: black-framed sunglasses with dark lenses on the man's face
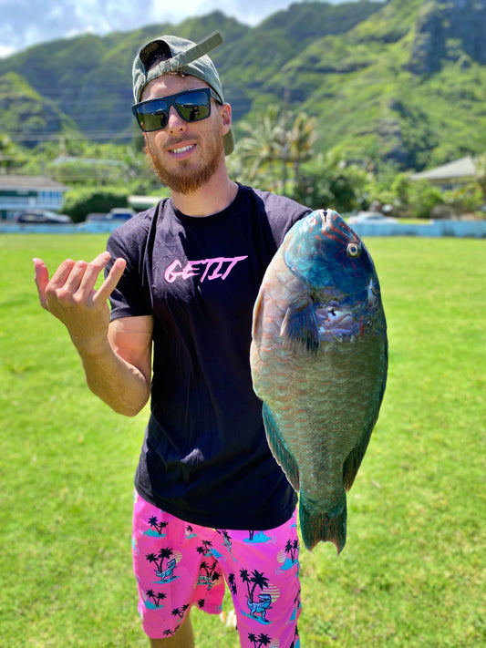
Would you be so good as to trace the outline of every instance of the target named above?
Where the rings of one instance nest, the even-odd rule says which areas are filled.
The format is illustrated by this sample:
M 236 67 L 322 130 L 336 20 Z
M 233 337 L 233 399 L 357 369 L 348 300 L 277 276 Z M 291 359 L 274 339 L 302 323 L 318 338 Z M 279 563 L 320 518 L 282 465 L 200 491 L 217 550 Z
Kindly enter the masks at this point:
M 196 90 L 178 92 L 170 97 L 141 101 L 140 104 L 132 106 L 131 110 L 139 122 L 140 129 L 149 133 L 152 130 L 165 129 L 171 106 L 184 121 L 201 121 L 209 117 L 211 98 L 218 101 L 210 87 L 198 87 Z

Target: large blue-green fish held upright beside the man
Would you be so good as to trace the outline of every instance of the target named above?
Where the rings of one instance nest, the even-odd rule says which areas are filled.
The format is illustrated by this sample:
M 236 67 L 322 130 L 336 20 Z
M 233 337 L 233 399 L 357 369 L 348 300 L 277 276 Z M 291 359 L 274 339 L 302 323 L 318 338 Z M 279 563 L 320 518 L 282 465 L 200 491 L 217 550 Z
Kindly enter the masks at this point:
M 265 436 L 299 494 L 307 550 L 346 544 L 346 491 L 382 404 L 387 322 L 374 262 L 333 210 L 287 231 L 253 306 L 250 367 Z

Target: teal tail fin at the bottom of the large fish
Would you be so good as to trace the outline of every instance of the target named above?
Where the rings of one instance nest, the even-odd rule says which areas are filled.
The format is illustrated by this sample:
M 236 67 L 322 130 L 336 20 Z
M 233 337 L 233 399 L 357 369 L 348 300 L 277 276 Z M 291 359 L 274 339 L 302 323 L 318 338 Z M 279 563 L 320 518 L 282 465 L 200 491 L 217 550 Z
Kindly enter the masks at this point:
M 344 493 L 344 491 L 343 491 Z M 313 513 L 305 501 L 305 496 L 301 493 L 299 500 L 299 519 L 302 540 L 305 548 L 309 551 L 315 548 L 317 542 L 333 542 L 336 545 L 337 553 L 341 553 L 346 544 L 346 494 L 341 501 L 336 514 L 330 514 L 326 511 Z

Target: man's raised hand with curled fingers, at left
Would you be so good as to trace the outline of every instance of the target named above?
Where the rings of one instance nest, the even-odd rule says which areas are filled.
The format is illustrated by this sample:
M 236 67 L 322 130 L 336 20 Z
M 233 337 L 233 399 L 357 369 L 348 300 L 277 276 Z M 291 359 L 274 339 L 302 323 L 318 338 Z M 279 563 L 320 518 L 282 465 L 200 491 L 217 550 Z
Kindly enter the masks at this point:
M 90 263 L 67 259 L 59 265 L 50 281 L 46 264 L 41 259 L 33 260 L 40 305 L 66 325 L 81 355 L 96 354 L 108 340 L 107 300 L 126 266 L 124 259 L 117 259 L 96 291 L 98 275 L 109 259 L 109 252 L 98 254 Z

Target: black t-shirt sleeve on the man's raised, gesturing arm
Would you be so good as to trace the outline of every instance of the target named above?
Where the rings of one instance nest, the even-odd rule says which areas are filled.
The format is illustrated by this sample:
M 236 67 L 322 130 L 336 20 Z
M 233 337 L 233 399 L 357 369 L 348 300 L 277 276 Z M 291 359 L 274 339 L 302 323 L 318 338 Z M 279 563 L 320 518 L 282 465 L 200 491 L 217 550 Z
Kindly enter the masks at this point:
M 150 293 L 146 290 L 147 281 L 144 280 L 145 246 L 140 241 L 140 236 L 132 228 L 120 226 L 111 233 L 107 250 L 111 259 L 105 269 L 105 276 L 116 259 L 122 258 L 127 262 L 117 287 L 109 297 L 111 320 L 153 314 Z

